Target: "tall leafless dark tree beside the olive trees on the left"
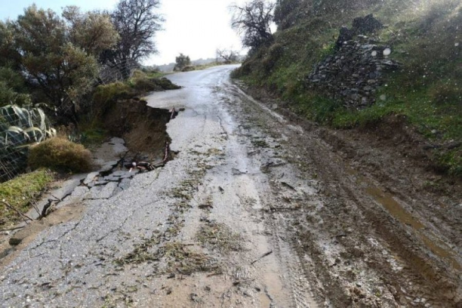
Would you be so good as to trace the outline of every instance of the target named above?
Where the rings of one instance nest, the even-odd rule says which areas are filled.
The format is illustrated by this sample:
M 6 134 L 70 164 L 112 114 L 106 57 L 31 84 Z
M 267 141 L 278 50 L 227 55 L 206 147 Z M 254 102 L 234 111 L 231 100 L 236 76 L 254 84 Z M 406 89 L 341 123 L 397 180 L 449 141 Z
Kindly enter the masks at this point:
M 120 40 L 115 48 L 106 50 L 100 61 L 117 66 L 127 78 L 131 64 L 157 53 L 153 38 L 164 22 L 162 16 L 154 12 L 159 6 L 159 0 L 120 0 L 111 13 Z

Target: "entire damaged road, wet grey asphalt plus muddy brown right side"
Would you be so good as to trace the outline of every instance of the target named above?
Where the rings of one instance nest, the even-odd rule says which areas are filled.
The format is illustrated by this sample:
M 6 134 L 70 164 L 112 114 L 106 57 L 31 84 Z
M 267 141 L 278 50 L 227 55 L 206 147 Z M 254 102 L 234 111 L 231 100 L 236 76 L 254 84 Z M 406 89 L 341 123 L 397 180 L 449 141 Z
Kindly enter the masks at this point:
M 1 306 L 460 306 L 460 187 L 425 190 L 399 153 L 276 113 L 232 69 L 147 98 L 185 108 L 175 159 L 76 188 L 90 197 L 66 207 L 85 210 L 4 266 Z

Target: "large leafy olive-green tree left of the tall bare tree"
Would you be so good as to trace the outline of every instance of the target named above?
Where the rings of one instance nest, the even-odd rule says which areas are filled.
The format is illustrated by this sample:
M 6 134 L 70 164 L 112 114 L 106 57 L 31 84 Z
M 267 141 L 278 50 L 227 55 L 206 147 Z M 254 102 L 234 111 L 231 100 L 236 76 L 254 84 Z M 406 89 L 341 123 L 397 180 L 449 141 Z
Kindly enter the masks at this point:
M 42 90 L 59 115 L 76 122 L 79 99 L 98 75 L 95 56 L 115 43 L 117 32 L 107 15 L 81 14 L 74 7 L 65 9 L 63 15 L 35 5 L 26 8 L 24 15 L 10 22 L 10 59 L 31 85 Z M 105 35 L 95 35 L 100 31 Z

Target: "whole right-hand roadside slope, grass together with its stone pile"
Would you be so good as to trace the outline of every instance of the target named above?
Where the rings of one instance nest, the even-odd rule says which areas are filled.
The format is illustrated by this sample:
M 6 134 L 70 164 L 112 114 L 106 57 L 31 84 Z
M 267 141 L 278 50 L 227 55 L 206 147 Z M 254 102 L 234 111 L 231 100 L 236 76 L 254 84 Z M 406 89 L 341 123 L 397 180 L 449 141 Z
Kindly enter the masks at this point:
M 349 67 L 354 62 L 349 52 L 336 49 L 339 29 L 352 29 L 355 17 L 368 14 L 383 26 L 374 32 L 355 30 L 368 37 L 353 35 L 345 40 L 351 40 L 349 46 L 372 49 L 370 53 L 377 59 L 360 59 Z M 415 133 L 405 133 L 402 139 L 413 137 L 411 144 L 425 143 L 418 153 L 425 160 L 422 163 L 460 178 L 461 16 L 462 6 L 457 0 L 335 0 L 329 5 L 284 0 L 276 8 L 274 44 L 254 51 L 234 75 L 282 99 L 279 107 L 323 125 L 361 127 L 375 131 L 378 138 L 402 132 L 395 130 L 390 118 L 398 126 L 410 126 Z M 398 61 L 399 69 L 385 72 L 379 67 L 375 71 L 383 50 L 387 50 L 386 62 Z M 338 62 L 341 67 L 335 70 Z M 364 69 L 368 76 L 361 74 Z M 347 71 L 334 87 L 329 79 L 332 70 L 337 76 Z M 322 78 L 328 80 L 323 82 Z M 368 96 L 359 100 L 359 106 L 348 105 L 351 98 L 361 99 L 364 92 Z M 395 115 L 398 117 L 393 118 Z

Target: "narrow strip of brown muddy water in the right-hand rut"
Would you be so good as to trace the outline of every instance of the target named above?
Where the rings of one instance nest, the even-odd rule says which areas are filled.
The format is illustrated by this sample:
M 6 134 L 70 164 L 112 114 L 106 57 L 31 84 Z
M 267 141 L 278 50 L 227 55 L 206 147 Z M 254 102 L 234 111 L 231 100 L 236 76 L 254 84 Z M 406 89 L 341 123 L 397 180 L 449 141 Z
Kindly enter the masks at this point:
M 424 234 L 426 226 L 421 223 L 417 218 L 412 216 L 396 199 L 392 194 L 384 192 L 382 189 L 374 186 L 364 176 L 359 175 L 358 171 L 354 170 L 350 166 L 346 166 L 347 173 L 351 176 L 354 176 L 356 183 L 361 187 L 365 187 L 365 192 L 371 196 L 377 203 L 381 204 L 390 215 L 393 216 L 400 223 L 405 224 L 413 228 L 418 235 L 418 237 L 424 242 L 430 251 L 436 256 L 445 259 L 449 264 L 460 271 L 462 269 L 461 265 L 456 259 L 456 253 L 446 244 L 444 241 L 438 239 L 433 233 L 431 233 L 432 238 Z

